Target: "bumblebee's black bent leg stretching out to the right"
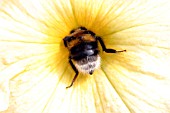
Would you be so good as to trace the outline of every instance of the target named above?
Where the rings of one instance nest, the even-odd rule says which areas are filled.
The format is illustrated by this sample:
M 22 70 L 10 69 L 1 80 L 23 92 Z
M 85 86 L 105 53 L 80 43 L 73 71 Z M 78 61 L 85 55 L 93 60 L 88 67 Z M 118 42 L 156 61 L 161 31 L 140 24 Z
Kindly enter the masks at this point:
M 121 50 L 121 51 L 116 51 L 115 49 L 107 49 L 102 38 L 101 37 L 96 37 L 97 40 L 100 42 L 100 45 L 102 46 L 103 51 L 106 53 L 118 53 L 118 52 L 125 52 L 126 50 Z

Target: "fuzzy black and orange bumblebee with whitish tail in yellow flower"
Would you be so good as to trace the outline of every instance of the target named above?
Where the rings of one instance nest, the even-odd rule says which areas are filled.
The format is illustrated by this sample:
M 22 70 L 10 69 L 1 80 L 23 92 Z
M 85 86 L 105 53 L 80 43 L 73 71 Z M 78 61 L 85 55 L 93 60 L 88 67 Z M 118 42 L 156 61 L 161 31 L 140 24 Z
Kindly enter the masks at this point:
M 107 49 L 102 38 L 85 27 L 78 27 L 70 31 L 70 34 L 64 39 L 64 46 L 69 50 L 69 63 L 75 71 L 75 76 L 69 86 L 70 88 L 79 72 L 92 75 L 94 70 L 100 67 L 100 56 L 98 42 L 103 51 L 106 53 L 125 52 L 126 50 L 116 51 L 114 49 Z

